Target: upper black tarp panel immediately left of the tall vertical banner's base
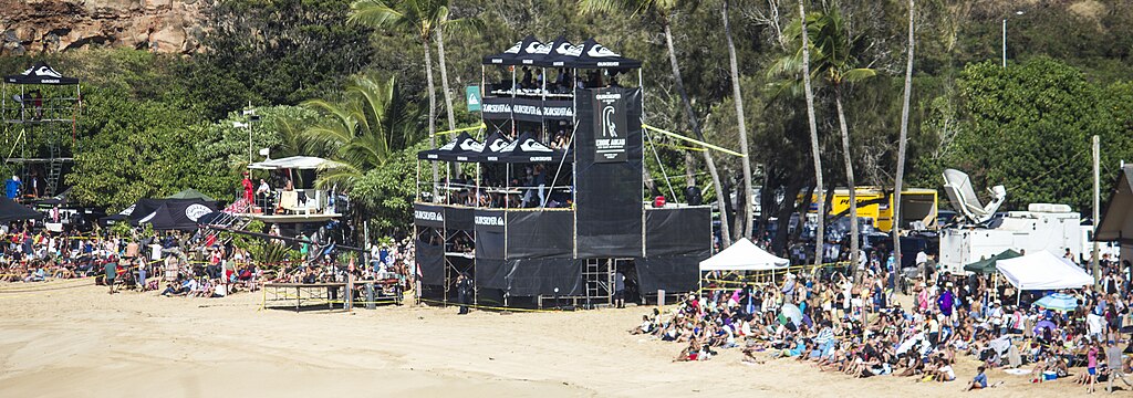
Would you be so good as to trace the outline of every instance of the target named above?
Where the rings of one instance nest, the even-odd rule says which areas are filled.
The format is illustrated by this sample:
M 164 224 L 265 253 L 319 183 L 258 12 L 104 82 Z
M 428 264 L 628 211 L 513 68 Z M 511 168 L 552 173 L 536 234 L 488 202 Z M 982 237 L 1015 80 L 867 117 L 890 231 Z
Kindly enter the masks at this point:
M 508 211 L 508 258 L 570 258 L 574 216 L 570 211 Z

